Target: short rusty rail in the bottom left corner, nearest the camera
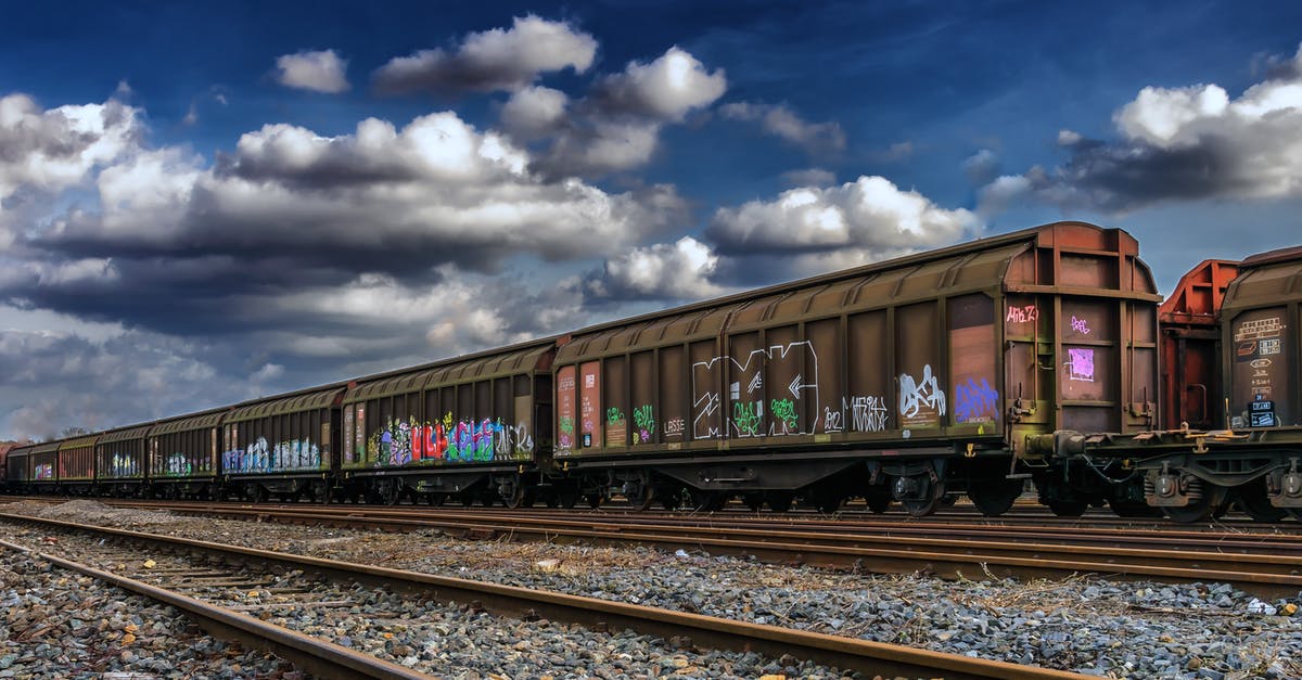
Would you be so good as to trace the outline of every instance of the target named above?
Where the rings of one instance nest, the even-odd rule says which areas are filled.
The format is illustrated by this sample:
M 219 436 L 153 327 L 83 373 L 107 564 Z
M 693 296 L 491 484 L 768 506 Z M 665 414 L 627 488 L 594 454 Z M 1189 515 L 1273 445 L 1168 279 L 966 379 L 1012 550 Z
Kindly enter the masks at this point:
M 13 516 L 9 516 L 13 517 Z M 73 525 L 78 526 L 78 525 Z M 311 636 L 264 623 L 223 607 L 208 604 L 181 593 L 158 588 L 143 581 L 109 573 L 72 561 L 57 555 L 40 552 L 26 546 L 0 541 L 0 546 L 35 555 L 64 569 L 83 573 L 99 581 L 130 590 L 150 599 L 171 604 L 186 614 L 199 628 L 212 637 L 238 642 L 245 647 L 270 651 L 288 659 L 301 670 L 319 677 L 374 677 L 380 680 L 430 680 L 431 675 L 353 651 L 348 647 Z

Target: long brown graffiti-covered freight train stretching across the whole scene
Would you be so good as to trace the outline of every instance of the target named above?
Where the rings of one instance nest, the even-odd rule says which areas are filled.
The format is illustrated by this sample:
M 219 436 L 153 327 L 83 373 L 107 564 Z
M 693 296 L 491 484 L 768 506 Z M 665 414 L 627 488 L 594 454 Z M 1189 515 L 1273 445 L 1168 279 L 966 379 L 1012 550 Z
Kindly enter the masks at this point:
M 441 504 L 622 496 L 926 516 L 1302 513 L 1302 249 L 1164 304 L 1060 221 L 570 333 L 16 447 L 12 491 Z

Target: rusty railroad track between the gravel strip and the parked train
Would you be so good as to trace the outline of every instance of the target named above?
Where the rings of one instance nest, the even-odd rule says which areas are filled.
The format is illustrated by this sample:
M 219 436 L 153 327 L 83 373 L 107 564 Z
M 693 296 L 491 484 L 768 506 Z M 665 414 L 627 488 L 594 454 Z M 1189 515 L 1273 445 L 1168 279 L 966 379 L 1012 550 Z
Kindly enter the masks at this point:
M 643 545 L 747 555 L 776 563 L 858 568 L 876 573 L 1061 578 L 1074 573 L 1170 582 L 1228 582 L 1262 597 L 1302 590 L 1302 535 L 1135 531 L 1075 526 L 773 520 L 646 516 L 615 512 L 501 512 L 375 505 L 240 505 L 109 502 L 182 515 L 256 518 L 340 528 L 436 528 L 479 539 Z

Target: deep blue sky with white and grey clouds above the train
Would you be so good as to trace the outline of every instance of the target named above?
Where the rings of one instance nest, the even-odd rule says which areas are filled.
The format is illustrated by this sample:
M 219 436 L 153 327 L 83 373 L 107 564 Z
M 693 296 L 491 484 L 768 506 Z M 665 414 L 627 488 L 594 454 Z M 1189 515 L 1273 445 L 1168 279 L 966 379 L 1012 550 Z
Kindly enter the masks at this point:
M 1302 5 L 60 3 L 0 25 L 0 438 L 1057 219 L 1302 242 Z

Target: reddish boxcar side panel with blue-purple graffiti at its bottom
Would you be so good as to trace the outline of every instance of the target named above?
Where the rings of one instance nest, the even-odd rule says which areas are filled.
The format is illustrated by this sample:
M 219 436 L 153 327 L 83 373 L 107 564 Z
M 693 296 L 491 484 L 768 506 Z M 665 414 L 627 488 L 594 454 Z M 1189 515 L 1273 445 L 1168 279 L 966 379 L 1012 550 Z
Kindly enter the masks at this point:
M 999 423 L 1001 409 L 995 375 L 995 301 L 974 293 L 949 300 L 948 310 L 953 422 L 978 423 L 983 434 L 993 432 L 987 425 Z

